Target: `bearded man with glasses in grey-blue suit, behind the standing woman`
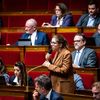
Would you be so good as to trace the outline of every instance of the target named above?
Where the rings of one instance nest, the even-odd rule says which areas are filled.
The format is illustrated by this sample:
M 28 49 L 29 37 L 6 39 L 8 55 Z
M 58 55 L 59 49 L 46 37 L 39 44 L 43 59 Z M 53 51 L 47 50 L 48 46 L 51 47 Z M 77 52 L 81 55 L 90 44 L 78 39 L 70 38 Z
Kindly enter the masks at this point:
M 73 67 L 96 67 L 96 52 L 91 48 L 85 47 L 85 44 L 85 35 L 83 33 L 76 34 L 74 37 L 76 50 L 72 52 Z

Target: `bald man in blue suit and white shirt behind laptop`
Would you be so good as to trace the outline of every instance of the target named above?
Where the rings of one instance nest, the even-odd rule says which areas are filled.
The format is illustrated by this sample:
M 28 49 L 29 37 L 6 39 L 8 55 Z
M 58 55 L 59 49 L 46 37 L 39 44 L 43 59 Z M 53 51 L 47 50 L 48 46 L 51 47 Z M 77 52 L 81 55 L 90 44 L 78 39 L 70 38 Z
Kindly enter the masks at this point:
M 49 45 L 49 39 L 46 33 L 37 30 L 37 21 L 33 18 L 28 19 L 25 23 L 25 33 L 21 39 L 30 39 L 34 45 Z

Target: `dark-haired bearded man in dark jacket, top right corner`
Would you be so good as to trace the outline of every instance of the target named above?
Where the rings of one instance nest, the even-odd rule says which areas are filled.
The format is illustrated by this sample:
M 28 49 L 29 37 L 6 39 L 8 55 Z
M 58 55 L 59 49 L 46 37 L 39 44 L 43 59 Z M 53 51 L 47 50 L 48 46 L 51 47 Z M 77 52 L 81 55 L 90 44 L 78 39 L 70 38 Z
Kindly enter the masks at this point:
M 88 4 L 88 13 L 80 17 L 76 26 L 78 27 L 95 27 L 100 23 L 100 14 L 98 14 L 98 8 L 95 2 Z

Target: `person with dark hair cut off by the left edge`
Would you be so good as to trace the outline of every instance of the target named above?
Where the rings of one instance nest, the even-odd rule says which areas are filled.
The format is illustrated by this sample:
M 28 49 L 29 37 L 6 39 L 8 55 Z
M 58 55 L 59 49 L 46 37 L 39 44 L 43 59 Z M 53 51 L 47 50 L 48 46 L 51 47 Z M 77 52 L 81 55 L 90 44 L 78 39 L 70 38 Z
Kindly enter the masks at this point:
M 6 73 L 6 68 L 1 58 L 0 58 L 0 76 L 4 76 L 6 84 L 8 84 L 9 75 Z

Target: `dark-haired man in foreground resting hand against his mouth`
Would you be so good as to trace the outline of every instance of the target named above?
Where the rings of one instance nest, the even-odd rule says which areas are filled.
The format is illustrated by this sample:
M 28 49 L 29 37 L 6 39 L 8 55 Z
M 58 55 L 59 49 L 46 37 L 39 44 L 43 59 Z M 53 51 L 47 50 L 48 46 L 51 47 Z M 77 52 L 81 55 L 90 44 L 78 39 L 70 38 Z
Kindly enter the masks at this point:
M 34 100 L 63 100 L 63 98 L 52 89 L 52 83 L 47 75 L 41 75 L 34 80 Z M 40 94 L 40 99 L 38 98 Z

